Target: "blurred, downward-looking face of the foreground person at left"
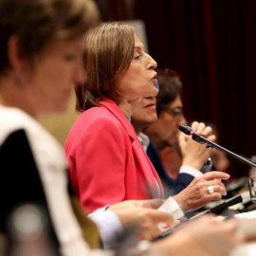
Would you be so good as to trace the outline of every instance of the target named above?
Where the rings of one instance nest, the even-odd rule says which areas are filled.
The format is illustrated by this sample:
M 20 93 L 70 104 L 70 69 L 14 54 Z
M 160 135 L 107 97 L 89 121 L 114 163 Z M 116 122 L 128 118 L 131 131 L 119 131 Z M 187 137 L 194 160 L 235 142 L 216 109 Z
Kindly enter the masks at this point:
M 84 79 L 82 37 L 47 46 L 27 81 L 37 102 L 36 112 L 63 112 L 73 85 Z

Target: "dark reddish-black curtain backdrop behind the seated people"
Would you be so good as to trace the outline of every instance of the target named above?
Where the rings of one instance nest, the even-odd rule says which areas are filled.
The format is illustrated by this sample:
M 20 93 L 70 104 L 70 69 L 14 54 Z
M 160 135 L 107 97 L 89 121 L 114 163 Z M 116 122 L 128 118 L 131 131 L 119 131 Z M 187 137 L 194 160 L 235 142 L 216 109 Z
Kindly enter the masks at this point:
M 255 0 L 98 0 L 103 21 L 141 19 L 149 52 L 184 84 L 189 120 L 210 121 L 219 144 L 256 155 Z M 231 174 L 249 167 L 231 160 Z

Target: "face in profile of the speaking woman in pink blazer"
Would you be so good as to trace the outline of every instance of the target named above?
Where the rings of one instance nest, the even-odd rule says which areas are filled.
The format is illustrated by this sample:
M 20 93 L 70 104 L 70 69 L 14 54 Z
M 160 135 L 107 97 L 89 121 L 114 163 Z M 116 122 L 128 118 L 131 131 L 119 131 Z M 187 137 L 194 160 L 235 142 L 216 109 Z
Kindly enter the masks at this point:
M 119 76 L 118 88 L 124 99 L 135 104 L 141 97 L 155 97 L 155 60 L 143 50 L 143 45 L 135 35 L 135 52 L 129 68 Z

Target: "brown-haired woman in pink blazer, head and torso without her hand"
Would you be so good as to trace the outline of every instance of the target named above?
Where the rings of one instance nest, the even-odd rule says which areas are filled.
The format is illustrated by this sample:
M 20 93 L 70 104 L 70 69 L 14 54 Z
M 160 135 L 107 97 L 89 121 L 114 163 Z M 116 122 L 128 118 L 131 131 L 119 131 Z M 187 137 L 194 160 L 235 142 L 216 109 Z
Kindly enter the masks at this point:
M 141 97 L 155 97 L 155 60 L 134 27 L 105 23 L 84 40 L 87 81 L 77 87 L 82 112 L 65 152 L 71 185 L 93 211 L 127 199 L 162 197 L 162 185 L 130 122 Z

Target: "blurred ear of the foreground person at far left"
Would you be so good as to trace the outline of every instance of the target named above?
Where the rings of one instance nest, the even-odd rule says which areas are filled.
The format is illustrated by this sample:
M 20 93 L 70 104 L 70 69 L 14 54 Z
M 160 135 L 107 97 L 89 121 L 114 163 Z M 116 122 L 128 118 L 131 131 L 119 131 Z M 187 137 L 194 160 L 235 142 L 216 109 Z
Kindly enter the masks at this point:
M 28 61 L 20 52 L 19 39 L 17 36 L 13 35 L 9 38 L 7 54 L 11 69 L 21 71 L 27 67 Z

